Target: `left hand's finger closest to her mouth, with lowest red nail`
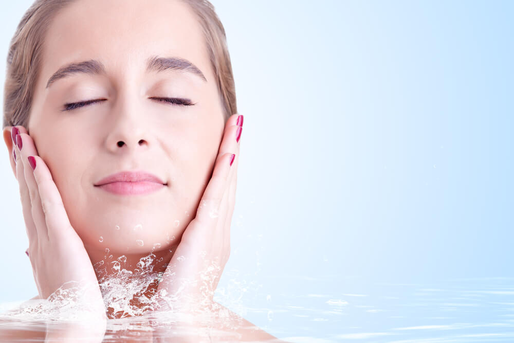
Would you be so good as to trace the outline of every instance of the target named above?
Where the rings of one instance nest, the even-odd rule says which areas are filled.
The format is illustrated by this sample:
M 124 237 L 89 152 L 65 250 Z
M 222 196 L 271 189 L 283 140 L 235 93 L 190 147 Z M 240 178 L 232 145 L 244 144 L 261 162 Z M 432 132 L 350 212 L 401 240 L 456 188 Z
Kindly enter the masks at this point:
M 50 240 L 63 239 L 69 242 L 69 234 L 75 237 L 76 232 L 69 222 L 61 193 L 59 193 L 59 189 L 53 181 L 51 172 L 45 161 L 40 156 L 31 157 L 33 157 L 35 161 L 33 174 L 39 190 L 48 237 Z

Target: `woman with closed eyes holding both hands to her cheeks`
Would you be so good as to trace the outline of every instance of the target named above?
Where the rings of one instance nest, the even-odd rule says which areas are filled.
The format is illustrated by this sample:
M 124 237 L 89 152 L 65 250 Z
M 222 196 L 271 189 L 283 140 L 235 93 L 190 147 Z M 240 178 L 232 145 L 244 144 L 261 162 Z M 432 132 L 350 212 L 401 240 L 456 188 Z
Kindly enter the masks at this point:
M 212 5 L 38 0 L 6 78 L 35 298 L 75 290 L 102 318 L 212 308 L 243 125 Z

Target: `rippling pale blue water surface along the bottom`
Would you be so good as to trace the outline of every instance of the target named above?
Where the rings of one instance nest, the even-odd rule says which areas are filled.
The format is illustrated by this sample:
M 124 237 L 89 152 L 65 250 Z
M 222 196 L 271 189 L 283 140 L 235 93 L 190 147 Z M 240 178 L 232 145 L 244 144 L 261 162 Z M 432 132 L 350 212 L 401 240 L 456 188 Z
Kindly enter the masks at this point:
M 430 283 L 388 283 L 360 277 L 267 276 L 226 271 L 231 278 L 218 287 L 214 300 L 257 327 L 291 342 L 455 342 L 514 340 L 514 279 L 434 280 Z M 339 280 L 334 282 L 335 280 Z M 277 284 L 287 289 L 277 291 Z M 4 304 L 0 312 L 11 304 Z M 222 319 L 204 314 L 194 329 L 181 314 L 148 312 L 139 317 L 108 319 L 98 341 L 152 341 L 189 337 L 194 341 L 227 340 L 218 329 Z M 199 318 L 199 317 L 198 317 Z M 67 325 L 67 327 L 66 327 Z M 74 327 L 77 326 L 77 327 Z M 94 331 L 79 324 L 11 318 L 0 328 L 27 333 Z M 63 329 L 64 328 L 64 329 Z M 209 338 L 210 336 L 210 338 Z M 102 338 L 103 337 L 103 338 Z M 221 338 L 225 337 L 225 338 Z M 36 340 L 37 341 L 37 340 Z

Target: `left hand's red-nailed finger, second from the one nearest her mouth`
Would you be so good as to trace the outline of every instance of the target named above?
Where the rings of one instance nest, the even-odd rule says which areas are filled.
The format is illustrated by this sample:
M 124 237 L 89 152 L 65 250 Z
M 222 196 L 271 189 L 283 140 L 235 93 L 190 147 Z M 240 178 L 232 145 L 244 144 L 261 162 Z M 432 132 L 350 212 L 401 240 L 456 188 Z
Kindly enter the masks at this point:
M 42 240 L 44 238 L 48 240 L 45 214 L 41 205 L 38 184 L 35 181 L 34 172 L 32 167 L 29 165 L 28 160 L 29 156 L 37 155 L 37 152 L 35 150 L 32 138 L 28 134 L 22 133 L 21 130 L 20 134 L 16 136 L 16 143 L 19 147 L 22 147 L 20 151 L 21 162 L 23 163 L 25 182 L 27 183 L 29 190 L 32 219 L 34 221 L 36 230 L 38 231 L 38 239 Z

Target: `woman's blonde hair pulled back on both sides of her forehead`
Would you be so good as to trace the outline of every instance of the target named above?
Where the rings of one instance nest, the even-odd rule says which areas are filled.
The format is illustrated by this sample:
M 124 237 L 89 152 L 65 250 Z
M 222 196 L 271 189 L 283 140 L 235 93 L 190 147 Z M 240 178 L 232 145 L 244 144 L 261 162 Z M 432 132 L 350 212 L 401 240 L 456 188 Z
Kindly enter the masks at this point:
M 41 69 L 46 30 L 59 10 L 74 1 L 36 0 L 23 15 L 7 55 L 3 128 L 9 125 L 27 128 L 34 86 Z M 209 1 L 180 1 L 190 6 L 203 30 L 226 122 L 237 113 L 237 106 L 225 29 Z

